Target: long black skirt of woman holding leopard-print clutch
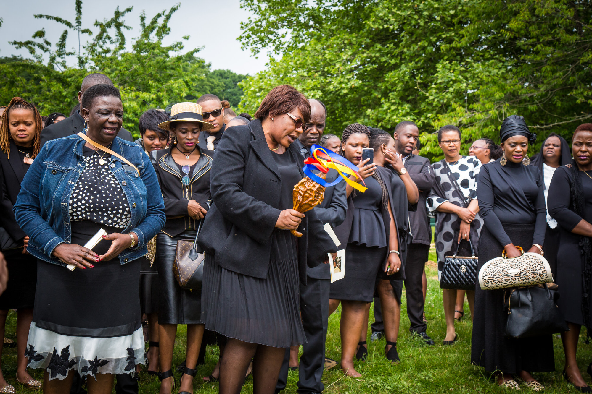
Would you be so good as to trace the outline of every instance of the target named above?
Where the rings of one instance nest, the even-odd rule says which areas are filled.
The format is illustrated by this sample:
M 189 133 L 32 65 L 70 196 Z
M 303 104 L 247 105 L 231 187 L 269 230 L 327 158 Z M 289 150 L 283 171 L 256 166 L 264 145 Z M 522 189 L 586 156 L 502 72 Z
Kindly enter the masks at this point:
M 516 246 L 529 250 L 532 246 L 534 224 L 503 224 L 506 234 Z M 479 266 L 500 257 L 503 246 L 487 227 L 479 239 Z M 475 316 L 471 362 L 486 371 L 503 373 L 552 372 L 555 370 L 552 335 L 532 338 L 506 338 L 504 325 L 507 310 L 504 309 L 504 290 L 481 290 L 475 286 Z

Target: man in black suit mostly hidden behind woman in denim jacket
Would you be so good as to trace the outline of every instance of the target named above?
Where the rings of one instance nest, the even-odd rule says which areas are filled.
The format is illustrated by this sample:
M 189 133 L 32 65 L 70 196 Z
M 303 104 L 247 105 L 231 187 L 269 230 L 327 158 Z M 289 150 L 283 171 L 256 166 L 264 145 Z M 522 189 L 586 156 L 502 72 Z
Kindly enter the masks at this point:
M 86 89 L 99 84 L 113 86 L 111 79 L 109 79 L 109 77 L 104 74 L 96 73 L 85 76 L 82 80 L 80 91 L 78 92 L 78 102 L 82 102 L 82 95 L 84 92 L 86 92 Z M 56 138 L 67 137 L 67 135 L 78 134 L 82 130 L 84 130 L 84 119 L 82 118 L 80 111 L 76 111 L 75 114 L 69 118 L 66 118 L 61 122 L 50 124 L 41 130 L 41 146 L 43 146 L 43 144 L 47 141 L 55 140 Z M 117 134 L 117 137 L 130 142 L 134 141 L 131 133 L 123 127 Z

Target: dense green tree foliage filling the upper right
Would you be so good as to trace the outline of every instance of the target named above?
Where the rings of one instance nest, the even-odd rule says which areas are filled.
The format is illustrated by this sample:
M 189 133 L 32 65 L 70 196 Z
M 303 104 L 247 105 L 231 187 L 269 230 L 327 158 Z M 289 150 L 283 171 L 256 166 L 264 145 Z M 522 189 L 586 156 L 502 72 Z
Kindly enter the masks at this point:
M 269 50 L 267 70 L 242 83 L 253 112 L 290 83 L 329 109 L 328 130 L 351 122 L 392 131 L 417 122 L 424 148 L 445 124 L 498 140 L 501 120 L 571 137 L 592 118 L 590 0 L 243 0 L 243 47 Z M 540 129 L 540 130 L 538 130 Z M 539 139 L 539 144 L 542 138 Z

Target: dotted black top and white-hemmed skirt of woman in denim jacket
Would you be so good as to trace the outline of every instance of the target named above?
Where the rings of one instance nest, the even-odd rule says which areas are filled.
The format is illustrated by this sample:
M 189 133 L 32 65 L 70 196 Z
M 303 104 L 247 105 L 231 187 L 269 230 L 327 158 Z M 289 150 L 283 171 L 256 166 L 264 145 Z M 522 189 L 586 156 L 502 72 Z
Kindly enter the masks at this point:
M 121 232 L 131 220 L 127 197 L 108 169 L 110 155 L 87 147 L 83 154 L 86 166 L 69 201 L 71 243 L 79 245 L 99 228 Z M 110 246 L 101 241 L 92 250 L 101 255 Z M 37 260 L 37 275 L 41 279 L 25 351 L 31 368 L 43 368 L 50 380 L 61 380 L 71 369 L 83 376 L 128 374 L 144 363 L 140 260 L 122 265 L 114 257 L 73 272 Z

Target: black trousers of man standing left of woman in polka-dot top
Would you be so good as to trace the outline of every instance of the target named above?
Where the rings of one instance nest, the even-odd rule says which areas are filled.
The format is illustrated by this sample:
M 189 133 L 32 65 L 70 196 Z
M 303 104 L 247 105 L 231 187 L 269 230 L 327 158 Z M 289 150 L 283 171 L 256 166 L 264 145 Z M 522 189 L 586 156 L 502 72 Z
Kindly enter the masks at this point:
M 422 277 L 429 251 L 429 245 L 407 245 L 407 256 L 405 260 L 405 276 L 407 279 L 404 280 L 404 284 L 407 295 L 407 317 L 411 323 L 409 331 L 411 332 L 425 332 L 427 330 L 427 324 L 423 321 L 424 299 Z M 374 323 L 372 323 L 371 328 L 372 332 L 384 331 L 379 298 L 374 299 Z

